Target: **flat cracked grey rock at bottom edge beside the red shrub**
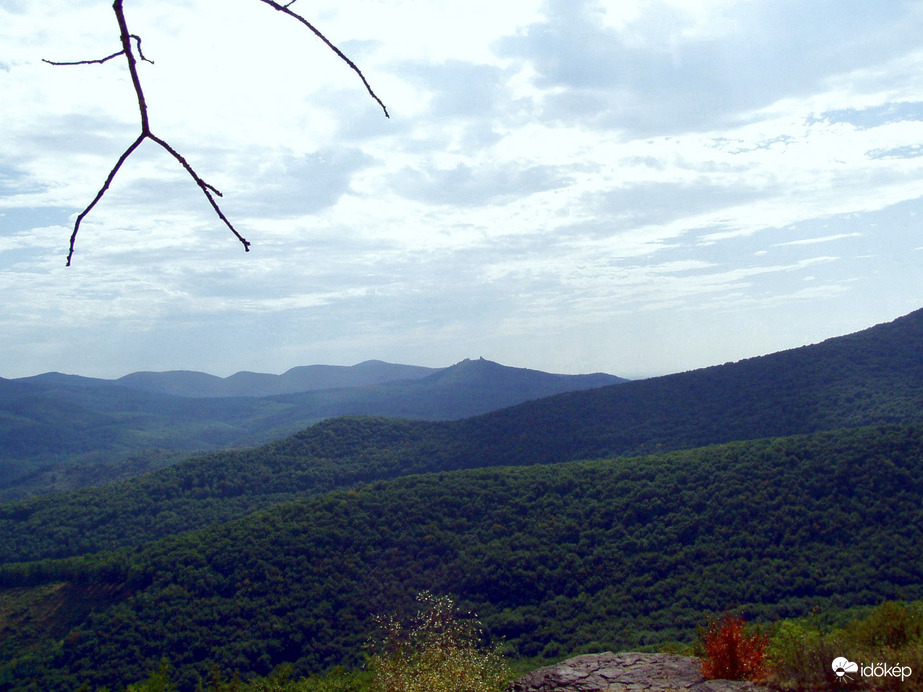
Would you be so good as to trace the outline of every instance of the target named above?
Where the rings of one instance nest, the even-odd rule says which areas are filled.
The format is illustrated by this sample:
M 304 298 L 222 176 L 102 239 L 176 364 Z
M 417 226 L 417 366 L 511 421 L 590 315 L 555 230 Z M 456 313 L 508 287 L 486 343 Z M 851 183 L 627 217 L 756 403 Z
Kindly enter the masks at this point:
M 701 661 L 672 654 L 622 653 L 577 656 L 514 680 L 507 692 L 757 692 L 766 687 L 706 680 Z

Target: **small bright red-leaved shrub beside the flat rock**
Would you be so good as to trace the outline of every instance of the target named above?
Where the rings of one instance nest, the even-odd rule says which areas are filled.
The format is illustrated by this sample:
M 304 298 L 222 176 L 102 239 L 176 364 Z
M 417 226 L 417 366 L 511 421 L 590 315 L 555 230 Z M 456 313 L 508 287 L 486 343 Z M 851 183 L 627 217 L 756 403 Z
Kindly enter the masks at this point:
M 763 675 L 769 638 L 747 634 L 741 617 L 715 620 L 702 637 L 702 675 L 708 680 L 753 680 Z

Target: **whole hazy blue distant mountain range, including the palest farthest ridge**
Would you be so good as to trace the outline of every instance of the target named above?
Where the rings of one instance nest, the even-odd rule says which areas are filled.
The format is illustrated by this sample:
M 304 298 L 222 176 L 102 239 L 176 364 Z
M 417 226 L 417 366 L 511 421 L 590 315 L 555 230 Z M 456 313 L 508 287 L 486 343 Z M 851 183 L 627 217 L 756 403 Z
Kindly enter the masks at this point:
M 602 373 L 556 375 L 465 360 L 448 368 L 366 361 L 306 366 L 282 375 L 133 373 L 117 380 L 46 373 L 0 379 L 0 497 L 49 479 L 74 487 L 115 479 L 88 465 L 146 450 L 196 451 L 277 439 L 325 418 L 377 415 L 452 420 L 528 399 L 624 382 Z M 152 461 L 126 465 L 144 470 Z M 38 474 L 36 476 L 36 474 Z M 15 487 L 12 487 L 15 486 Z

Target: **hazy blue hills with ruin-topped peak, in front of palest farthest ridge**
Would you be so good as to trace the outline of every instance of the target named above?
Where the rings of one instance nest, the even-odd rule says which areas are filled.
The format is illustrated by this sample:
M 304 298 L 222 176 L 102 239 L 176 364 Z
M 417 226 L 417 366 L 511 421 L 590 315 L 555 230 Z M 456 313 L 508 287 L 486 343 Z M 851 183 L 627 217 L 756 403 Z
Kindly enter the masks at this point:
M 413 380 L 262 397 L 190 399 L 57 373 L 0 378 L 0 488 L 17 479 L 22 487 L 23 476 L 49 464 L 84 467 L 98 457 L 122 458 L 151 448 L 253 445 L 344 415 L 454 420 L 618 381 L 610 375 L 553 375 L 483 360 Z M 35 483 L 29 487 L 41 490 Z

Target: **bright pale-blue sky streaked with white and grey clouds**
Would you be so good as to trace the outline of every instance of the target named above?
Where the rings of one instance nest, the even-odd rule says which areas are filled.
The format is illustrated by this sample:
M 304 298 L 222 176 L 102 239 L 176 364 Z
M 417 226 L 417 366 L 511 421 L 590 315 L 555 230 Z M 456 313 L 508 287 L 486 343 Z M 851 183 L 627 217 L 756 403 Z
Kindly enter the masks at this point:
M 647 377 L 923 307 L 923 2 L 0 0 L 0 377 Z

